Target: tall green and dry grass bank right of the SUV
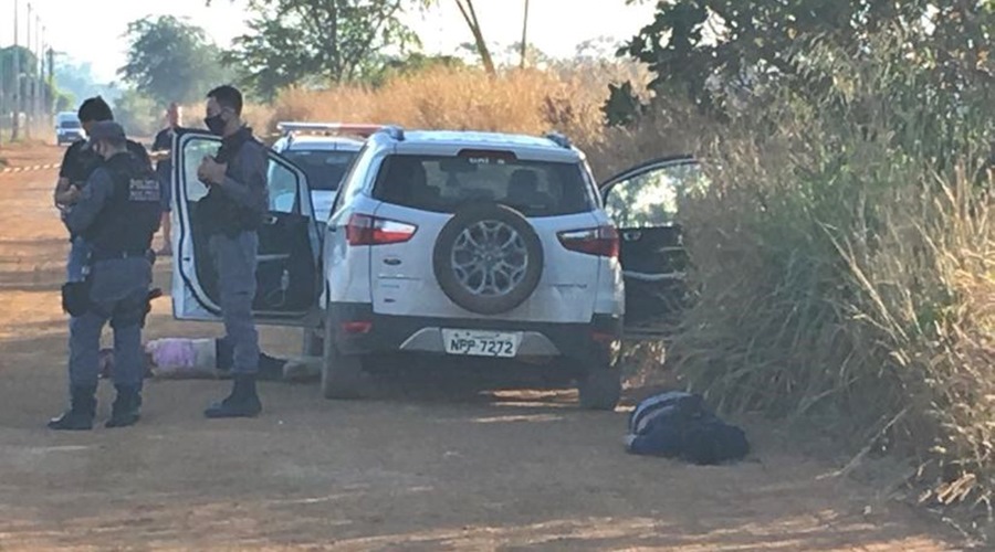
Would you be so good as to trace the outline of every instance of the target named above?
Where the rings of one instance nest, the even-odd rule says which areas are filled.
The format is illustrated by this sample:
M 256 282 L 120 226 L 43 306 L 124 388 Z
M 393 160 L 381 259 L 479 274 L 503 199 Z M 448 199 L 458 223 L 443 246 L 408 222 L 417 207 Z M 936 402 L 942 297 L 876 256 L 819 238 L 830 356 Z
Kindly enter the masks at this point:
M 726 412 L 828 424 L 909 459 L 923 499 L 988 503 L 986 93 L 879 46 L 826 56 L 820 95 L 771 91 L 708 130 L 713 187 L 682 211 L 701 295 L 671 358 Z

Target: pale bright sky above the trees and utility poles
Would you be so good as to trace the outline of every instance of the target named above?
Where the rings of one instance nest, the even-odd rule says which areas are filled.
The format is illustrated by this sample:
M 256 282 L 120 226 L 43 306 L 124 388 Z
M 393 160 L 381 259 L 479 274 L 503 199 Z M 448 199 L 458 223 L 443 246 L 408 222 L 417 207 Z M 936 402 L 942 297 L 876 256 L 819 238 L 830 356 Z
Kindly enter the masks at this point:
M 27 6 L 32 19 L 41 18 L 46 42 L 76 62 L 93 64 L 98 79 L 116 79 L 116 70 L 125 62 L 122 35 L 129 21 L 148 15 L 171 14 L 189 18 L 224 46 L 244 31 L 241 0 L 0 0 L 0 45 L 13 43 L 13 7 L 18 2 L 21 21 L 20 42 L 27 32 Z M 554 56 L 568 56 L 577 44 L 599 36 L 626 40 L 652 20 L 653 4 L 626 6 L 625 0 L 530 0 L 530 43 Z M 421 36 L 429 53 L 452 53 L 471 42 L 467 24 L 455 2 L 425 14 L 408 15 L 409 24 Z M 478 17 L 489 43 L 512 44 L 521 40 L 524 0 L 475 0 Z M 34 31 L 32 31 L 34 32 Z M 34 36 L 32 36 L 32 43 Z

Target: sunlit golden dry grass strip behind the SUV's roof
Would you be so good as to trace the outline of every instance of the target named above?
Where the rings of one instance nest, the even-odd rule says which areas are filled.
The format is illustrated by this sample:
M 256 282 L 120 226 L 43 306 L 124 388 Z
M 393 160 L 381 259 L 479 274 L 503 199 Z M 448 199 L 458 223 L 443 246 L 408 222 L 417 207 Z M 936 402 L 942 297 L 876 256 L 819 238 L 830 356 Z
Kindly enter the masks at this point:
M 584 149 L 599 177 L 648 157 L 687 150 L 688 136 L 668 129 L 608 130 L 601 106 L 608 84 L 643 83 L 645 71 L 624 64 L 588 64 L 551 71 L 510 71 L 492 78 L 475 68 L 434 68 L 396 77 L 384 86 L 291 89 L 274 104 L 277 120 L 397 124 L 406 128 L 566 134 Z

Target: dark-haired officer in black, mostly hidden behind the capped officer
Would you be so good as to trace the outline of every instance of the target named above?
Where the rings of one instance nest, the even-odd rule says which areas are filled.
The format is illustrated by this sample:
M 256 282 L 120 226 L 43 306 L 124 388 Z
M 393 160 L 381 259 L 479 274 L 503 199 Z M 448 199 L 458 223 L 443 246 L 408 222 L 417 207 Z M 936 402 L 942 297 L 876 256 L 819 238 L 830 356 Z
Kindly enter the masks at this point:
M 94 96 L 83 102 L 80 105 L 77 116 L 83 130 L 87 135 L 93 125 L 104 120 L 114 120 L 114 113 L 111 110 L 111 106 L 101 96 Z M 128 151 L 133 156 L 151 167 L 148 152 L 140 144 L 128 140 L 127 145 Z M 90 174 L 100 167 L 102 161 L 101 157 L 93 151 L 90 142 L 85 139 L 76 140 L 65 150 L 62 157 L 62 166 L 59 169 L 59 182 L 55 184 L 54 193 L 55 205 L 62 211 L 63 219 L 80 199 Z M 70 236 L 70 254 L 66 262 L 67 282 L 83 280 L 83 266 L 86 264 L 88 252 L 90 250 L 82 236 Z

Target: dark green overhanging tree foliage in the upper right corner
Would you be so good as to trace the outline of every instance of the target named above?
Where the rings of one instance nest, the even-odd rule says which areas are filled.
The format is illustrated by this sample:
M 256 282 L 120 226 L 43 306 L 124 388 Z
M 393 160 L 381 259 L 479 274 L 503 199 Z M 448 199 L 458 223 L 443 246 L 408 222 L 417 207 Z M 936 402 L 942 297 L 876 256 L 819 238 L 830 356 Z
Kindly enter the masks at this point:
M 727 110 L 731 92 L 757 96 L 772 82 L 819 95 L 834 75 L 814 72 L 808 52 L 831 46 L 841 55 L 868 56 L 886 33 L 901 40 L 910 63 L 932 71 L 942 86 L 957 87 L 965 78 L 989 76 L 992 9 L 991 0 L 661 1 L 652 23 L 619 54 L 649 65 L 658 94 L 685 95 L 713 114 Z

